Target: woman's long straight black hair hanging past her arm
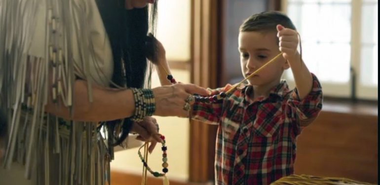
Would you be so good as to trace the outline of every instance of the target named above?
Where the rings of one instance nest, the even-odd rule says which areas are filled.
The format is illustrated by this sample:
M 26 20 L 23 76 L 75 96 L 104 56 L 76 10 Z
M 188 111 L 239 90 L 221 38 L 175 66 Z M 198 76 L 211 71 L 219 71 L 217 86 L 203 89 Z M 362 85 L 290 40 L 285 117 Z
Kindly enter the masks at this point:
M 109 37 L 114 59 L 113 86 L 150 87 L 152 64 L 147 61 L 146 41 L 151 12 L 151 31 L 155 31 L 157 1 L 151 6 L 126 10 L 125 0 L 96 0 Z M 106 123 L 109 140 L 120 145 L 128 136 L 133 121 L 125 118 Z M 120 128 L 121 127 L 121 128 Z M 110 138 L 111 137 L 111 138 Z

